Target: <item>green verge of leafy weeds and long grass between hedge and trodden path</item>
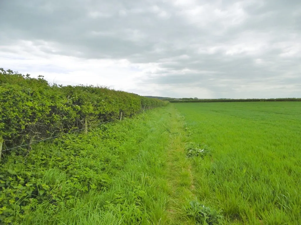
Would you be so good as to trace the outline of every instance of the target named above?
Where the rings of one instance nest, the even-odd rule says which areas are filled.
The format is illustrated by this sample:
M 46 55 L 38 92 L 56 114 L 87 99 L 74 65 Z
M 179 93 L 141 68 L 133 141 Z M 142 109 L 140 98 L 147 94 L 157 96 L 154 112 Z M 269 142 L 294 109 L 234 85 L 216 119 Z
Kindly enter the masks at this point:
M 0 168 L 1 223 L 176 224 L 170 212 L 177 209 L 185 222 L 190 194 L 180 201 L 172 194 L 191 185 L 181 139 L 176 186 L 166 154 L 170 135 L 180 137 L 175 117 L 172 107 L 157 108 L 34 144 L 25 157 L 11 152 Z

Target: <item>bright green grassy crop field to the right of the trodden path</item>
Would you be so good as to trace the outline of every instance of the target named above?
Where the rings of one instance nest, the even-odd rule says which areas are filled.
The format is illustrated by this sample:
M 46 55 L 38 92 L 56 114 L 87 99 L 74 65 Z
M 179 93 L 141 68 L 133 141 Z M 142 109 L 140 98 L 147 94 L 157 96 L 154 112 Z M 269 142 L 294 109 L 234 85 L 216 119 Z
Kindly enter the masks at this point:
M 189 103 L 189 140 L 210 146 L 193 160 L 195 195 L 225 224 L 301 224 L 301 104 Z

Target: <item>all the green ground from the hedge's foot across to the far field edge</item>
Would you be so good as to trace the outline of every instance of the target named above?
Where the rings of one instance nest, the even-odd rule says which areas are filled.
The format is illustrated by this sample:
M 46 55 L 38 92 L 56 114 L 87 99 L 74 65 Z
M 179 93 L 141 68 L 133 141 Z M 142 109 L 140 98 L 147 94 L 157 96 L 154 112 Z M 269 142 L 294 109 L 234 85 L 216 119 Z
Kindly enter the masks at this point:
M 41 142 L 1 161 L 0 224 L 301 224 L 300 112 L 169 104 Z

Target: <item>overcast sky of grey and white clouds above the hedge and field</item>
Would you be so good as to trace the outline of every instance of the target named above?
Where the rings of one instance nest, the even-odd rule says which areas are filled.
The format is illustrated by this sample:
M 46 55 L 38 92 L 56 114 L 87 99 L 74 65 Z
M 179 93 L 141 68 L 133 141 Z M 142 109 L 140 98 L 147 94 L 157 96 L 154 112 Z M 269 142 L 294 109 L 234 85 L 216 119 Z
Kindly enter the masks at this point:
M 174 98 L 301 97 L 300 0 L 0 0 L 0 67 Z

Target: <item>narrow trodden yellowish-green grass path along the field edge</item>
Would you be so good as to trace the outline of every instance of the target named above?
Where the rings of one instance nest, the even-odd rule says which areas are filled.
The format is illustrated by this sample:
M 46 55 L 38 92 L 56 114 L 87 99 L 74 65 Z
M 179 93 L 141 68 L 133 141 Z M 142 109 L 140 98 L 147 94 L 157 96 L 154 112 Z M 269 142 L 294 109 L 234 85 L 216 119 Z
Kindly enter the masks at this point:
M 170 107 L 170 134 L 167 148 L 167 176 L 171 190 L 167 214 L 169 224 L 193 224 L 186 217 L 186 206 L 189 204 L 194 189 L 191 175 L 191 164 L 185 155 L 184 118 Z

